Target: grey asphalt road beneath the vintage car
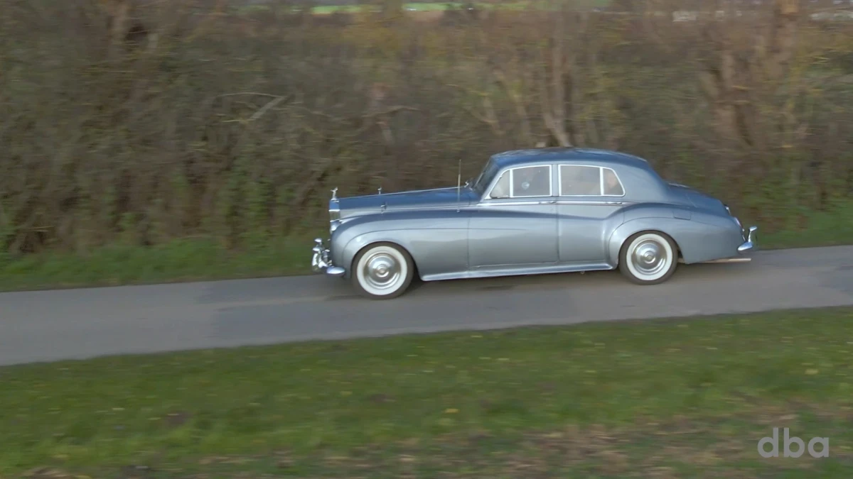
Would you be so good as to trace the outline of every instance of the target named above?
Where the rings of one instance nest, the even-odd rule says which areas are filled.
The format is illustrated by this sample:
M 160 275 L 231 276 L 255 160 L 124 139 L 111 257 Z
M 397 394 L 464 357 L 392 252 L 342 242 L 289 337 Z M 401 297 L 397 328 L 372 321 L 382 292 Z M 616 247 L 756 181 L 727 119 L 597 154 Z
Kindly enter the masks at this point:
M 306 260 L 308 258 L 306 257 Z M 0 294 L 0 365 L 99 355 L 853 305 L 853 246 L 680 265 L 663 285 L 617 272 L 415 283 L 390 301 L 325 276 Z

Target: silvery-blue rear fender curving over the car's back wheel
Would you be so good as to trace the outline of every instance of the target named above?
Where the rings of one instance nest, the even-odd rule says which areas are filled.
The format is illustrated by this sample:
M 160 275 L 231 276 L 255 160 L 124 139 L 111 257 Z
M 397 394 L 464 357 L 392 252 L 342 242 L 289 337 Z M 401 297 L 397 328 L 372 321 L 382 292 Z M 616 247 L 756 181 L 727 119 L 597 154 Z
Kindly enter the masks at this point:
M 625 240 L 641 231 L 668 234 L 681 251 L 684 263 L 688 264 L 734 257 L 743 242 L 740 228 L 731 218 L 697 211 L 693 211 L 690 219 L 636 218 L 613 231 L 608 247 L 612 264 L 618 265 L 619 251 Z

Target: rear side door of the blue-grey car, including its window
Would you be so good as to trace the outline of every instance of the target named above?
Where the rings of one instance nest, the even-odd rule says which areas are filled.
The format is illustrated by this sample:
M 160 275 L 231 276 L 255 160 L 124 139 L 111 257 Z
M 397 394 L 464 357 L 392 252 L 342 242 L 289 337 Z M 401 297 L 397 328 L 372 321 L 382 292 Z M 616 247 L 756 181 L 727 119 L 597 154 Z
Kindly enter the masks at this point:
M 624 187 L 612 168 L 558 164 L 560 263 L 605 263 L 610 233 L 622 224 Z

